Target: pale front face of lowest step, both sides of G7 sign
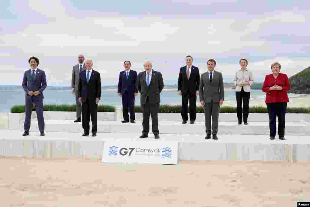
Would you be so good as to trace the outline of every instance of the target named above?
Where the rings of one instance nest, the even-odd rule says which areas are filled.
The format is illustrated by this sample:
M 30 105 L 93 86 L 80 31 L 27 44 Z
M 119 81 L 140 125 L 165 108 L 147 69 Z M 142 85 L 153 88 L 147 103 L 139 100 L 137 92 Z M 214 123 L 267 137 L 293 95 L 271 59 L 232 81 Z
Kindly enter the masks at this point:
M 100 160 L 104 141 L 2 139 L 0 155 L 30 158 L 92 158 Z M 179 142 L 179 160 L 262 160 L 309 162 L 309 144 Z

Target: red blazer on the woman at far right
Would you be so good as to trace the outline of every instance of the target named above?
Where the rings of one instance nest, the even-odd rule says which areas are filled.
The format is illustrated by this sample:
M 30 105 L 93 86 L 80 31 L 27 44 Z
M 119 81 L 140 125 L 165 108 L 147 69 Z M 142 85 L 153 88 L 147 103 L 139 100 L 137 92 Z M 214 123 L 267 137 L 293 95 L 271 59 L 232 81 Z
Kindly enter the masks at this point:
M 282 90 L 269 91 L 269 88 L 277 84 L 282 87 Z M 290 83 L 287 75 L 279 73 L 277 78 L 273 74 L 266 75 L 262 91 L 267 93 L 265 103 L 289 102 L 287 92 L 290 90 Z

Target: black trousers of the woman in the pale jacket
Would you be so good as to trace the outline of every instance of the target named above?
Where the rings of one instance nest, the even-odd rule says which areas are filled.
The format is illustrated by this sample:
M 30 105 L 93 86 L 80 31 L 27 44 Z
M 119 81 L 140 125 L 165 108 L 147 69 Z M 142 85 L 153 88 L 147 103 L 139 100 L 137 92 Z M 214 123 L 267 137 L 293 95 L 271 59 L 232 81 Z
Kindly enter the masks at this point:
M 242 112 L 243 112 L 243 122 L 247 122 L 249 116 L 250 92 L 245 92 L 242 87 L 240 92 L 236 92 L 236 99 L 237 99 L 238 121 L 242 122 Z M 243 111 L 242 111 L 242 101 L 243 101 Z

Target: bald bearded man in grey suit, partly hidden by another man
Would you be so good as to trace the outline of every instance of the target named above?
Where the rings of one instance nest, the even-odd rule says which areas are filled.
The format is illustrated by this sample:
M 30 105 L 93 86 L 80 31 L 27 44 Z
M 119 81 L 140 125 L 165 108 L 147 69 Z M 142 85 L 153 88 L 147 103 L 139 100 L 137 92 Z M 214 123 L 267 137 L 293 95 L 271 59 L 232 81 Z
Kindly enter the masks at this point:
M 77 104 L 77 119 L 74 122 L 81 122 L 81 115 L 82 115 L 82 104 L 78 101 L 78 81 L 80 79 L 80 72 L 82 70 L 86 70 L 86 66 L 84 64 L 85 57 L 84 55 L 78 56 L 78 64 L 73 66 L 72 70 L 72 79 L 71 79 L 71 88 L 72 93 L 75 95 L 75 102 Z

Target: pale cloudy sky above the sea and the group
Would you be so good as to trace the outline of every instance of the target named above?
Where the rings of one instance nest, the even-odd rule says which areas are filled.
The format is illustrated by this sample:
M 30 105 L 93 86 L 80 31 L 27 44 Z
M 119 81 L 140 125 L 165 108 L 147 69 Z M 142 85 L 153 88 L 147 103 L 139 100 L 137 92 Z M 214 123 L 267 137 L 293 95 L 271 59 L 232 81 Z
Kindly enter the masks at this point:
M 69 86 L 78 54 L 92 59 L 102 85 L 116 85 L 123 61 L 145 60 L 177 83 L 185 56 L 200 73 L 214 58 L 225 82 L 239 59 L 262 82 L 270 65 L 294 75 L 310 65 L 308 1 L 4 1 L 0 9 L 0 85 L 20 85 L 37 56 L 48 85 Z M 307 29 L 308 28 L 308 29 Z

